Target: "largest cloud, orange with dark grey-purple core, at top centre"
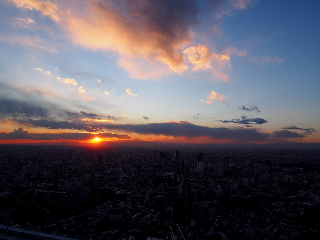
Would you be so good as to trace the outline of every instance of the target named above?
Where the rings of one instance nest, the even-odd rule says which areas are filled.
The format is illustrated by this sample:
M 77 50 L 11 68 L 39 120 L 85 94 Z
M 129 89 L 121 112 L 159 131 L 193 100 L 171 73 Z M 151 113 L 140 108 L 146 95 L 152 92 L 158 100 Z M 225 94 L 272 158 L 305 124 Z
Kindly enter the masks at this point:
M 197 24 L 198 5 L 194 0 L 91 1 L 89 11 L 66 17 L 74 43 L 93 50 L 115 51 L 121 66 L 135 60 L 164 64 L 174 72 L 188 68 L 181 53 L 193 39 L 190 26 Z

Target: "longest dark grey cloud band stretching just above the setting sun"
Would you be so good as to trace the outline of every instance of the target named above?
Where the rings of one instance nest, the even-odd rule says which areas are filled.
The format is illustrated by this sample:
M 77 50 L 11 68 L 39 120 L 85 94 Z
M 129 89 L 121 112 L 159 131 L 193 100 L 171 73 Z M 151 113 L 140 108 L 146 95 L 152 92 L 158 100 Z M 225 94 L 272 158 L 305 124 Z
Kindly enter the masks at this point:
M 21 120 L 9 119 L 9 121 L 27 126 L 46 127 L 49 129 L 73 129 L 87 132 L 100 132 L 103 129 L 135 132 L 138 134 L 155 134 L 173 137 L 208 137 L 217 140 L 237 141 L 262 141 L 270 137 L 269 133 L 261 133 L 255 128 L 228 129 L 224 127 L 206 127 L 192 124 L 188 121 L 171 121 L 149 124 L 79 124 L 68 121 Z

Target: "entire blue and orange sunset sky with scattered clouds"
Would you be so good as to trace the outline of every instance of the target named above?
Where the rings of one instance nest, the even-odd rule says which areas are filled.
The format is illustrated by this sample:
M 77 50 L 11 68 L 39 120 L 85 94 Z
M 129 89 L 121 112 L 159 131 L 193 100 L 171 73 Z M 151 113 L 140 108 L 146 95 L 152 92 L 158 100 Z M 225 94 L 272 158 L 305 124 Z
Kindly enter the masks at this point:
M 0 144 L 320 143 L 319 8 L 1 0 Z

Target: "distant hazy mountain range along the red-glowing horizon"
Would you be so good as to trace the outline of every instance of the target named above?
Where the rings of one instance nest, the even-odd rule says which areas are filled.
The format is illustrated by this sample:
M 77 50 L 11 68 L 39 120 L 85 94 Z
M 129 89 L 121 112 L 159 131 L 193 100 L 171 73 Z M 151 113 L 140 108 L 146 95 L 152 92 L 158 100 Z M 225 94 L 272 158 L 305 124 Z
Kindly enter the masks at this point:
M 35 142 L 35 143 L 15 143 L 15 145 L 64 145 L 64 146 L 87 146 L 99 148 L 192 148 L 192 149 L 318 149 L 320 150 L 320 143 L 310 142 L 279 142 L 279 143 L 221 143 L 221 144 L 179 144 L 172 142 L 157 142 L 144 141 L 139 138 L 132 140 L 118 140 L 118 141 L 102 141 L 99 142 Z

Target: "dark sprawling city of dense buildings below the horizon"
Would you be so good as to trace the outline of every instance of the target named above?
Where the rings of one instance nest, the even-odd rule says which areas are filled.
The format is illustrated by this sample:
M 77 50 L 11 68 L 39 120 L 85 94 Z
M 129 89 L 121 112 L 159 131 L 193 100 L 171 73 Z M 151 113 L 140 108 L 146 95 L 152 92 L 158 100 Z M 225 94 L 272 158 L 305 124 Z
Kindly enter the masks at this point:
M 318 239 L 319 168 L 302 150 L 3 145 L 0 224 L 95 240 Z

